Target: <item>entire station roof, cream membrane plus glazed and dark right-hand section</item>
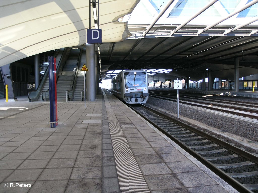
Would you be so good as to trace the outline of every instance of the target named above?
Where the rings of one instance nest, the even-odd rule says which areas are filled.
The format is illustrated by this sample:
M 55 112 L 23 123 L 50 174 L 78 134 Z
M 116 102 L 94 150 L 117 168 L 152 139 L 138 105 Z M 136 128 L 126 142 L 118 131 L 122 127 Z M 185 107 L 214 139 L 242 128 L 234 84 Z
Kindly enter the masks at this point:
M 84 47 L 86 30 L 96 28 L 89 2 L 0 1 L 0 66 L 49 50 Z M 206 68 L 225 77 L 231 76 L 235 58 L 243 67 L 240 77 L 258 73 L 258 0 L 96 2 L 101 78 L 124 69 L 199 76 Z

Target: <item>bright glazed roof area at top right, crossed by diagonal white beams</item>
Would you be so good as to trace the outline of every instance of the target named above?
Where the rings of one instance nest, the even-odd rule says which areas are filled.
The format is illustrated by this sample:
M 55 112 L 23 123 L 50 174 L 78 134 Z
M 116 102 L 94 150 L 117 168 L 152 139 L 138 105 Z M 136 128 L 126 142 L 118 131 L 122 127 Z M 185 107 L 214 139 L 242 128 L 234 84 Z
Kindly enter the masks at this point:
M 219 0 L 212 6 L 208 7 L 203 13 L 196 16 L 188 24 L 213 24 L 252 1 L 253 0 Z M 168 2 L 169 0 L 141 0 L 130 16 L 128 27 L 130 28 L 130 25 L 137 25 L 137 28 L 139 28 L 138 25 L 142 25 L 141 27 L 145 29 L 152 22 L 152 19 L 157 17 L 158 13 L 164 8 L 165 5 L 168 4 Z M 156 22 L 156 25 L 182 24 L 199 12 L 208 3 L 210 3 L 209 0 L 174 0 L 170 7 L 168 7 L 168 9 Z M 243 23 L 243 17 L 248 17 L 250 19 L 251 17 L 257 15 L 258 3 L 242 12 L 239 12 L 229 19 L 222 21 L 219 23 L 219 25 L 239 25 Z M 252 24 L 258 25 L 258 21 Z M 134 28 L 134 30 L 137 29 Z

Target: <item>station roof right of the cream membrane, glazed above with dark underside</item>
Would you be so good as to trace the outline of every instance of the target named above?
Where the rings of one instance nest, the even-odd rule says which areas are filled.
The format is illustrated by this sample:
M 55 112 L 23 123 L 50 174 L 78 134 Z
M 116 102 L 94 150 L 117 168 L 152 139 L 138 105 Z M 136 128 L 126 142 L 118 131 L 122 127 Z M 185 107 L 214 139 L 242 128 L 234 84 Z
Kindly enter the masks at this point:
M 174 76 L 232 78 L 235 58 L 240 77 L 258 73 L 257 0 L 141 0 L 128 22 L 123 42 L 102 44 L 102 78 L 109 70 L 171 69 Z M 253 68 L 250 69 L 249 67 Z M 222 70 L 223 69 L 223 70 Z M 172 71 L 173 70 L 173 71 Z M 164 72 L 157 72 L 162 74 Z

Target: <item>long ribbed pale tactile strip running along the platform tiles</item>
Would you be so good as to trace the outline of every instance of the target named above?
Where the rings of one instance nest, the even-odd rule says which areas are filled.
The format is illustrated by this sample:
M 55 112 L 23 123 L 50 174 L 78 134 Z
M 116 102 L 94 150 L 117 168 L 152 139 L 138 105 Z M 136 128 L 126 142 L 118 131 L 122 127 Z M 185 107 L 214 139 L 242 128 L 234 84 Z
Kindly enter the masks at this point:
M 109 130 L 113 145 L 118 181 L 123 193 L 150 193 L 150 190 L 142 176 L 141 170 L 135 160 L 133 152 L 126 141 L 116 115 L 103 92 L 107 110 Z

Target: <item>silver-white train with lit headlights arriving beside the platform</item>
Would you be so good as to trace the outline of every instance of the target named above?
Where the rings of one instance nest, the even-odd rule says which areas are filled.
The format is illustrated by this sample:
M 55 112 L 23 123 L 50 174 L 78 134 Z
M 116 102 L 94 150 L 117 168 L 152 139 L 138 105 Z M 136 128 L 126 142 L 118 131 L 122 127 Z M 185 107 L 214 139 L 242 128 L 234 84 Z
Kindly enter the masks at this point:
M 143 70 L 124 70 L 111 80 L 112 93 L 126 103 L 146 103 L 149 98 L 148 73 Z

